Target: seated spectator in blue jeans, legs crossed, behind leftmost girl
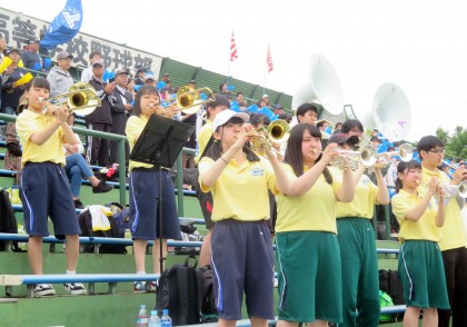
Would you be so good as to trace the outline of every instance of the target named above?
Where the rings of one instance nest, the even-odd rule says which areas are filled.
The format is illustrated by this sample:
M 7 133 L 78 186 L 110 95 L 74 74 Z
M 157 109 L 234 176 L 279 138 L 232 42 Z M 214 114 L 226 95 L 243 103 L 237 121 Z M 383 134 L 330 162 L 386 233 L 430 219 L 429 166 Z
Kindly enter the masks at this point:
M 70 113 L 67 118 L 67 123 L 69 126 L 74 125 L 74 112 Z M 68 178 L 70 179 L 71 194 L 73 195 L 74 208 L 83 209 L 82 202 L 79 199 L 81 190 L 81 180 L 87 179 L 92 185 L 93 194 L 108 192 L 112 189 L 111 185 L 106 184 L 103 180 L 99 180 L 89 168 L 88 162 L 86 161 L 83 153 L 85 147 L 82 146 L 79 135 L 74 133 L 76 143 L 63 145 L 63 152 L 66 156 L 64 171 L 67 172 Z

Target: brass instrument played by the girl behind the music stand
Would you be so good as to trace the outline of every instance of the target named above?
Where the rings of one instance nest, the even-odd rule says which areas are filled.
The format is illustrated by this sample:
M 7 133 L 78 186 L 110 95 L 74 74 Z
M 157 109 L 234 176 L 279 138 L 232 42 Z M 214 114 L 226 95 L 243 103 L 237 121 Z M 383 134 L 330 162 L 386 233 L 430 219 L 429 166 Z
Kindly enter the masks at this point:
M 192 115 L 198 112 L 202 105 L 207 101 L 215 101 L 216 95 L 209 88 L 193 89 L 190 87 L 182 87 L 177 91 L 177 95 L 166 102 L 162 102 L 162 107 L 168 107 L 170 103 L 176 102 L 179 109 L 186 115 Z

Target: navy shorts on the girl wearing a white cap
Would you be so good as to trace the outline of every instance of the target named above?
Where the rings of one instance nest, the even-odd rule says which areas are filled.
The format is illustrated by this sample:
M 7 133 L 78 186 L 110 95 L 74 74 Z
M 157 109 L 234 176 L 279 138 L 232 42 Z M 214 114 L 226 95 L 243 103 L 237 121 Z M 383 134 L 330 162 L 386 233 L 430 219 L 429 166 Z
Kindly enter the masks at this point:
M 211 266 L 220 318 L 241 319 L 245 291 L 249 317 L 274 319 L 274 251 L 265 220 L 216 222 Z

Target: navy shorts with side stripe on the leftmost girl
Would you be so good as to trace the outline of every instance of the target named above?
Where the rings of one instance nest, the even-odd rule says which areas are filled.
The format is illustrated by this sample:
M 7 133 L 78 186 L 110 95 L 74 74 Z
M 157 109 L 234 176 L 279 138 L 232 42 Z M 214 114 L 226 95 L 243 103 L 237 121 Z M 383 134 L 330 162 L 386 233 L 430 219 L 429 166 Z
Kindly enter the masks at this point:
M 20 197 L 29 235 L 49 236 L 48 216 L 57 238 L 81 234 L 68 177 L 60 165 L 26 164 L 21 174 Z

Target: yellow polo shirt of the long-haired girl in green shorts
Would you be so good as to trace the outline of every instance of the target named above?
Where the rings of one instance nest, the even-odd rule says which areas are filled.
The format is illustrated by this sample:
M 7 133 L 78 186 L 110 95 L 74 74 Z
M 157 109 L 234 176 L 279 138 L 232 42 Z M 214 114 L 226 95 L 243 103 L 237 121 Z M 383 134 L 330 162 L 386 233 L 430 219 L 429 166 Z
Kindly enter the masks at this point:
M 296 178 L 294 169 L 284 164 L 290 178 Z M 315 185 L 301 197 L 276 196 L 276 231 L 319 230 L 337 234 L 336 194 L 339 185 L 332 176 L 329 185 L 321 174 Z

